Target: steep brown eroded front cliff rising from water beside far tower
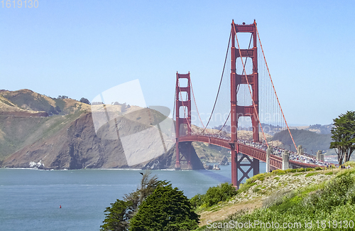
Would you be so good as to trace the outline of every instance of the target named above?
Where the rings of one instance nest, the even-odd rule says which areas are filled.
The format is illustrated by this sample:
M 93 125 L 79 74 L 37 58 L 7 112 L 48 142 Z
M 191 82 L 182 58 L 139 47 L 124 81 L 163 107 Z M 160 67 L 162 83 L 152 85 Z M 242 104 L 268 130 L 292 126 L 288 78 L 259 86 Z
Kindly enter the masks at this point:
M 86 112 L 50 137 L 28 144 L 2 163 L 9 168 L 173 168 L 175 142 L 154 126 L 119 117 L 95 132 Z M 118 134 L 112 139 L 110 134 Z M 153 134 L 153 136 L 152 136 Z M 117 136 L 116 136 L 117 137 Z M 202 168 L 200 159 L 195 168 Z

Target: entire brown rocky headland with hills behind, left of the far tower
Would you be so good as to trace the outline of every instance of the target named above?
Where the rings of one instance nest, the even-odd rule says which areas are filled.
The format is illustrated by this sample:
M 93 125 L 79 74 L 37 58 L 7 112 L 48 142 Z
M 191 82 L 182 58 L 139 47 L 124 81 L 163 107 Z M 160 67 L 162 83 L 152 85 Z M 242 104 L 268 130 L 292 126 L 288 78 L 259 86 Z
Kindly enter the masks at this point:
M 0 163 L 7 168 L 174 168 L 175 132 L 165 114 L 0 90 Z M 203 168 L 192 152 L 193 168 Z

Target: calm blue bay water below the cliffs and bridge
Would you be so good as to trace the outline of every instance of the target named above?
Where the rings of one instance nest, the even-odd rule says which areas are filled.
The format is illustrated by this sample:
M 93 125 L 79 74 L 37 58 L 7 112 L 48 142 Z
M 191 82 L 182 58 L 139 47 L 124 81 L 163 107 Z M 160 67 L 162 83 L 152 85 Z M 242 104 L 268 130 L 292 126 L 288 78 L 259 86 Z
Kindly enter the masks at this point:
M 263 162 L 260 171 L 265 172 Z M 0 230 L 99 230 L 105 208 L 136 190 L 139 172 L 0 169 Z M 191 198 L 219 183 L 230 183 L 231 166 L 221 166 L 220 171 L 152 171 L 152 175 L 170 181 Z

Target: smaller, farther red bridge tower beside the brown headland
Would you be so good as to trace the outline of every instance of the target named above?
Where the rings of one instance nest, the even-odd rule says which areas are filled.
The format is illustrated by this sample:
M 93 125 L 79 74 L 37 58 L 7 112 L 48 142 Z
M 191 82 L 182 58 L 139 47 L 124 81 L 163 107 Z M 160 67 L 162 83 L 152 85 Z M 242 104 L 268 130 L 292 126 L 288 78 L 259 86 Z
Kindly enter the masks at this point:
M 187 86 L 180 86 L 180 79 L 187 79 Z M 180 132 L 187 132 L 187 136 L 191 135 L 191 87 L 190 87 L 190 72 L 187 74 L 179 74 L 176 72 L 176 95 L 175 95 L 175 114 L 176 114 L 176 124 L 175 124 L 175 131 L 176 131 L 176 162 L 175 162 L 175 169 L 181 169 L 180 161 L 186 161 L 187 169 L 192 169 L 191 164 L 191 151 L 184 152 L 180 157 L 180 149 L 179 149 L 179 137 Z M 186 99 L 182 99 L 181 92 L 186 92 Z M 180 107 L 183 107 L 182 114 L 180 114 Z M 180 127 L 181 124 L 186 124 L 184 127 Z M 191 143 L 188 144 L 189 149 L 191 150 L 192 146 Z

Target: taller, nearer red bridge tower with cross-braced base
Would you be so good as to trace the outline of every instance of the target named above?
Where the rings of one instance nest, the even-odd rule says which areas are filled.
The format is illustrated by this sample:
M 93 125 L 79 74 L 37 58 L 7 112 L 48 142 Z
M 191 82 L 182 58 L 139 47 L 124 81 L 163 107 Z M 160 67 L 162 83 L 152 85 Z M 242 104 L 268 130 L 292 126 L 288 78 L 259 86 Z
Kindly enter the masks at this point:
M 253 48 L 241 49 L 239 52 L 238 46 L 236 47 L 236 33 L 251 33 L 253 38 Z M 236 73 L 236 60 L 237 58 L 250 58 L 253 63 L 253 72 L 246 73 L 248 75 L 238 75 Z M 244 62 L 243 59 L 241 62 Z M 243 71 L 243 70 L 241 70 Z M 248 80 L 246 80 L 248 78 Z M 239 106 L 237 99 L 236 89 L 238 85 L 251 85 L 252 99 L 254 105 Z M 253 169 L 253 174 L 258 174 L 259 161 L 257 159 L 249 159 L 248 156 L 243 155 L 238 160 L 238 144 L 237 144 L 237 129 L 239 117 L 251 117 L 251 125 L 253 127 L 253 141 L 259 141 L 259 124 L 258 124 L 258 53 L 257 53 L 257 34 L 256 34 L 256 21 L 253 24 L 242 25 L 231 23 L 231 183 L 239 187 L 244 178 L 248 178 L 248 173 Z M 247 159 L 249 163 L 241 163 L 243 159 Z M 244 171 L 241 166 L 250 166 L 248 171 Z M 243 173 L 238 179 L 238 170 Z

